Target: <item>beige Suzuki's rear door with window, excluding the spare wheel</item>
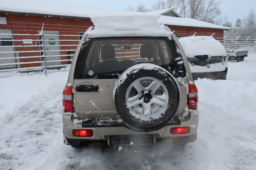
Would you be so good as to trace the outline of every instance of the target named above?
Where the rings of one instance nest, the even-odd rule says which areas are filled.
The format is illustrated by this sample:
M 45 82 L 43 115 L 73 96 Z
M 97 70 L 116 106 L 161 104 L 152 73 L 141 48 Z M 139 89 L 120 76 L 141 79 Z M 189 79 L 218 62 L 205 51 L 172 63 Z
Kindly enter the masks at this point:
M 171 72 L 170 57 L 176 57 L 176 50 L 166 48 L 165 39 L 157 39 L 156 42 L 150 38 L 144 38 L 141 41 L 134 39 L 107 40 L 105 38 L 82 45 L 73 80 L 74 110 L 78 113 L 78 118 L 118 117 L 113 101 L 113 88 L 119 75 L 133 65 L 157 64 Z M 157 44 L 154 51 L 156 55 L 142 57 L 141 46 L 154 43 Z M 110 49 L 104 51 L 103 49 L 107 46 Z M 178 69 L 176 71 L 184 71 L 182 75 L 185 75 L 176 78 L 180 87 L 178 109 L 184 110 L 187 105 L 186 71 L 179 69 L 179 67 L 183 69 L 183 61 L 177 63 Z

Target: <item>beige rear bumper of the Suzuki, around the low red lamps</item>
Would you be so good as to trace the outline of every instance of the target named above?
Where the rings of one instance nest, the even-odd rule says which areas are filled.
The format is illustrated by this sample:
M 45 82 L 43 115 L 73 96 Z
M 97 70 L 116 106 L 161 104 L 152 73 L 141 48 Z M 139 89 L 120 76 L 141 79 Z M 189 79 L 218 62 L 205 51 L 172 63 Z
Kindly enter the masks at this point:
M 191 136 L 197 132 L 198 128 L 198 110 L 189 111 L 189 114 L 186 118 L 177 122 L 170 122 L 163 128 L 153 131 L 153 132 L 136 132 L 127 126 L 124 126 L 121 122 L 109 124 L 107 126 L 102 126 L 100 124 L 94 125 L 88 124 L 86 126 L 76 125 L 72 122 L 72 114 L 63 114 L 63 128 L 64 134 L 69 139 L 78 139 L 78 140 L 108 140 L 109 135 L 129 135 L 129 134 L 155 134 L 155 138 L 167 138 L 167 137 L 183 137 L 183 136 Z M 181 127 L 181 126 L 189 126 L 190 133 L 187 134 L 170 134 L 170 128 L 172 127 Z M 72 130 L 74 129 L 90 129 L 93 131 L 92 137 L 74 137 L 72 135 Z

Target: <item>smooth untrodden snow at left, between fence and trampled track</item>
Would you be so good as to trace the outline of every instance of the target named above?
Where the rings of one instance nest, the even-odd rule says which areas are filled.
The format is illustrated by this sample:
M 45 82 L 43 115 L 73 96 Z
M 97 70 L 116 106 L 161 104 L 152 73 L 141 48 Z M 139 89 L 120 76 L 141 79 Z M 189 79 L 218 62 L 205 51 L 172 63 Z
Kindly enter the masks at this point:
M 41 94 L 55 88 L 56 82 L 61 81 L 64 86 L 67 77 L 68 72 L 0 78 L 1 89 L 4 89 L 0 90 L 0 125 L 37 104 Z

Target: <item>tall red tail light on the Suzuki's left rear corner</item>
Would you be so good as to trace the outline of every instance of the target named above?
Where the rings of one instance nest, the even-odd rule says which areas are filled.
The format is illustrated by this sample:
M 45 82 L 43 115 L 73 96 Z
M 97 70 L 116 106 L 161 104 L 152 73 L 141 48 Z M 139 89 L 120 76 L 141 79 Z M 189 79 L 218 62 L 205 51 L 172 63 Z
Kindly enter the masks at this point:
M 72 85 L 66 85 L 64 87 L 64 90 L 62 93 L 62 104 L 63 104 L 64 111 L 66 112 L 74 111 Z

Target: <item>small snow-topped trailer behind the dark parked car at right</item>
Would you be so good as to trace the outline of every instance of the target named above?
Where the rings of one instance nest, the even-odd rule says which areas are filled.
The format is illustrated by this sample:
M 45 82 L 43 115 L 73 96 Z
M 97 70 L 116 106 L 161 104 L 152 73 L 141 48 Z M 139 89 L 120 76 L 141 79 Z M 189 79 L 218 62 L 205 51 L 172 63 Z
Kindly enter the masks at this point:
M 248 56 L 248 49 L 226 50 L 228 59 L 243 61 Z

